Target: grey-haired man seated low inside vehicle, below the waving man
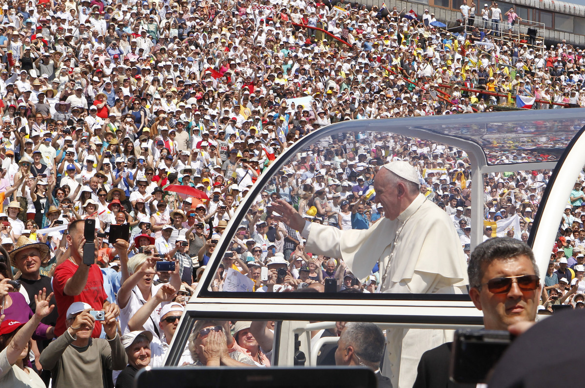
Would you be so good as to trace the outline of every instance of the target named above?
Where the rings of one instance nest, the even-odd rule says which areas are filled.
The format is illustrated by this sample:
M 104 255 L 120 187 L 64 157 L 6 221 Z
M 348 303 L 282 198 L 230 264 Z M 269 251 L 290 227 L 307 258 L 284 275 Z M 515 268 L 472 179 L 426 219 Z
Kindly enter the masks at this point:
M 367 366 L 374 371 L 379 388 L 392 388 L 388 377 L 380 373 L 386 338 L 382 330 L 368 322 L 347 322 L 337 343 L 335 365 Z

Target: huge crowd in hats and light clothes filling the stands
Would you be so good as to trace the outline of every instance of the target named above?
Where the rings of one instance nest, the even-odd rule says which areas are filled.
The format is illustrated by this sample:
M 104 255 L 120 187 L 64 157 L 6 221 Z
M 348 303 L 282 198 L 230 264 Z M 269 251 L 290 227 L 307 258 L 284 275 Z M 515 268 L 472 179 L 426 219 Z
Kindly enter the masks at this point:
M 72 359 L 81 357 L 95 377 L 87 382 L 123 369 L 114 380 L 124 387 L 143 366 L 161 365 L 240 201 L 309 132 L 345 120 L 490 111 L 509 104 L 508 94 L 571 107 L 585 99 L 579 48 L 499 39 L 488 23 L 453 35 L 428 11 L 416 18 L 395 7 L 304 0 L 0 3 L 0 347 L 32 338 L 29 351 L 11 353 L 3 383 L 38 372 L 42 381 L 31 384 L 52 375 L 53 386 L 79 385 Z M 561 105 L 533 106 L 550 107 Z M 300 232 L 270 205 L 282 199 L 312 222 L 367 229 L 384 217 L 371 185 L 391 160 L 416 167 L 421 193 L 452 217 L 469 257 L 466 154 L 355 132 L 319 140 L 264 187 L 211 288 L 229 286 L 233 270 L 253 291 L 324 291 L 329 283 L 375 292 L 376 267 L 362 282 L 342 260 L 305 252 Z M 525 241 L 549 176 L 487 176 L 486 239 L 495 236 L 490 225 L 518 215 L 520 229 L 508 235 Z M 585 291 L 581 183 L 552 253 L 559 268 L 553 263 L 545 280 L 545 307 Z M 90 266 L 87 220 L 95 225 Z M 123 224 L 129 241 L 110 240 L 111 225 Z M 158 260 L 174 269 L 157 270 Z M 36 322 L 32 331 L 26 322 Z M 253 326 L 230 325 L 201 322 L 181 363 L 269 365 L 270 352 L 246 339 Z M 215 353 L 202 351 L 204 340 L 215 341 Z

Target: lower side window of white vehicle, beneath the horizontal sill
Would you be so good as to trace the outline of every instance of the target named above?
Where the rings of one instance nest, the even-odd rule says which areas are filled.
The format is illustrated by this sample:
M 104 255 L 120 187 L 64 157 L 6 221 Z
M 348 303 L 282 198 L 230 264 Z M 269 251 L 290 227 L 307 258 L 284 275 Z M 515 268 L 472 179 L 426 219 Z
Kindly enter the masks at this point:
M 336 354 L 338 341 L 343 341 L 343 345 L 352 346 L 355 349 L 354 357 L 357 355 L 354 359 L 355 364 L 365 366 L 367 363 L 374 369 L 379 368 L 383 376 L 394 375 L 393 386 L 398 386 L 400 383 L 400 386 L 411 387 L 417 379 L 416 370 L 422 353 L 452 341 L 454 331 L 453 329 L 409 328 L 406 332 L 404 328 L 407 327 L 384 322 L 199 320 L 194 322 L 187 341 L 184 344 L 175 343 L 174 346 L 185 349 L 180 363 L 177 363 L 178 366 L 214 366 L 213 360 L 208 360 L 208 353 L 204 350 L 207 351 L 206 346 L 208 346 L 210 335 L 215 335 L 210 333 L 217 330 L 226 337 L 225 343 L 220 346 L 228 348 L 226 345 L 231 345 L 234 350 L 228 353 L 230 358 L 245 363 L 247 366 L 326 367 L 347 365 L 348 360 Z M 348 337 L 348 332 L 351 332 L 353 337 Z M 179 334 L 178 331 L 177 334 Z M 364 337 L 361 337 L 362 335 Z M 294 341 L 291 341 L 292 338 Z M 352 342 L 359 339 L 363 342 L 359 344 Z M 277 342 L 279 340 L 280 342 Z M 409 346 L 413 343 L 417 346 Z M 367 351 L 370 353 L 364 353 L 365 349 L 359 349 L 360 345 L 367 346 Z M 401 355 L 401 358 L 396 359 L 394 354 Z M 191 362 L 189 362 L 190 359 Z M 360 360 L 357 361 L 357 359 Z M 183 362 L 187 362 L 187 365 Z M 238 363 L 232 362 L 232 364 L 236 365 L 231 366 L 242 366 Z M 222 361 L 221 365 L 228 366 L 229 363 Z M 224 371 L 231 373 L 226 369 Z M 449 372 L 443 370 L 443 373 Z M 328 376 L 332 378 L 332 375 Z M 209 386 L 222 385 L 209 384 Z M 280 385 L 277 386 L 280 387 Z M 285 383 L 283 387 L 285 386 L 289 385 Z M 295 384 L 294 386 L 319 387 L 321 385 Z M 329 386 L 343 385 L 333 384 L 330 380 Z

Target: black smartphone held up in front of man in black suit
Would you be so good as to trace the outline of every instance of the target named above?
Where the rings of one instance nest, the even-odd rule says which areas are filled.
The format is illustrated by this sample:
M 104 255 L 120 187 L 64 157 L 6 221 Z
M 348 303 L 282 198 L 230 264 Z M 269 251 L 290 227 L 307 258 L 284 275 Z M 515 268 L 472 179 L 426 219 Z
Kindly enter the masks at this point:
M 514 337 L 507 331 L 463 329 L 455 331 L 449 378 L 462 384 L 486 383 Z

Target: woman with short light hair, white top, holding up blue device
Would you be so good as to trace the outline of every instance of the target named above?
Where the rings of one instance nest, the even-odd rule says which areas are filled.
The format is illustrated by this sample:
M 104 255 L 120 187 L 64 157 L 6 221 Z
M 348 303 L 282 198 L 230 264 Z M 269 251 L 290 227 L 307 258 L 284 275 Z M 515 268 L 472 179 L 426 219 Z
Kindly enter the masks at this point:
M 120 307 L 120 327 L 122 335 L 128 334 L 128 321 L 130 318 L 159 291 L 162 284 L 153 284 L 156 272 L 157 257 L 138 253 L 132 256 L 128 263 L 121 262 L 122 286 L 118 291 L 117 302 Z M 181 277 L 179 276 L 179 266 L 176 264 L 175 270 L 170 272 L 171 286 L 176 290 L 181 287 Z M 159 330 L 160 317 L 157 309 L 150 314 L 150 317 L 144 322 L 144 329 L 152 332 L 159 340 L 162 333 Z

